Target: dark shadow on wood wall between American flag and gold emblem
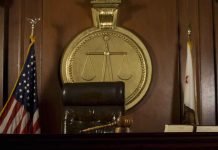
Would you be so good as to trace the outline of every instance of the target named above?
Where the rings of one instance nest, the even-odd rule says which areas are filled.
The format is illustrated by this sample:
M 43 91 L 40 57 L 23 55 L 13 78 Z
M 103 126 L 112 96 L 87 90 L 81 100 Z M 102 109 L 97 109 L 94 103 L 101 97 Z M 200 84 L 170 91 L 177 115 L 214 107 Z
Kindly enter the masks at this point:
M 41 126 L 42 133 L 60 134 L 61 133 L 61 116 L 62 116 L 62 97 L 61 97 L 61 78 L 60 78 L 60 60 L 62 57 L 64 26 L 52 25 L 55 29 L 53 38 L 56 44 L 52 55 L 47 55 L 53 60 L 52 66 L 48 68 L 49 80 L 46 81 L 42 90 L 41 100 Z M 48 54 L 48 53 L 47 53 Z M 46 59 L 46 58 L 43 58 Z

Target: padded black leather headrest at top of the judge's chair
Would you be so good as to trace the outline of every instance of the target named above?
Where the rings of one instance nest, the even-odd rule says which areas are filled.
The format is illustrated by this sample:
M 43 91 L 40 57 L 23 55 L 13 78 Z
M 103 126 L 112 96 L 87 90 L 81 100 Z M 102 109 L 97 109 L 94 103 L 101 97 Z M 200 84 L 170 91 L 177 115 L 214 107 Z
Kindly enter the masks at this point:
M 124 82 L 65 83 L 62 97 L 65 106 L 123 105 Z

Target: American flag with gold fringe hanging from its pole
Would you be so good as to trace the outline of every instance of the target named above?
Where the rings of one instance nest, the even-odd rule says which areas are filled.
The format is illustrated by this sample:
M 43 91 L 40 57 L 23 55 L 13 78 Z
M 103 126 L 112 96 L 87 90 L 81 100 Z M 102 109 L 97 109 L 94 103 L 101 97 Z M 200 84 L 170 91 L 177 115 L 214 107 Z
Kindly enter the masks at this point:
M 25 64 L 0 114 L 0 133 L 39 134 L 35 38 L 30 37 Z

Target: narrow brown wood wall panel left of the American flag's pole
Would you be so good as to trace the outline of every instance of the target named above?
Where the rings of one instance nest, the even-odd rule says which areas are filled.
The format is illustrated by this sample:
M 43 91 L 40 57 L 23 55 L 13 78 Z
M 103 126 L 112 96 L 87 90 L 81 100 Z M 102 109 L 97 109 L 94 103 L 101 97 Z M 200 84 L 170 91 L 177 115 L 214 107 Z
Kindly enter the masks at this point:
M 11 1 L 8 35 L 8 95 L 12 92 L 23 64 L 22 0 Z

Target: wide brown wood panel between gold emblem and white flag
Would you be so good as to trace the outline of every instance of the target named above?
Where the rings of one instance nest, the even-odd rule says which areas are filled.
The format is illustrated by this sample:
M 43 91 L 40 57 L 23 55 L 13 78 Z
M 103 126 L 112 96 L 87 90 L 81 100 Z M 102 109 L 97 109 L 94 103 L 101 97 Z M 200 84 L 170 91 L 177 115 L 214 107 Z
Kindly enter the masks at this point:
M 121 25 L 141 38 L 153 63 L 149 92 L 127 112 L 134 119 L 133 131 L 163 131 L 165 124 L 180 119 L 177 1 L 124 1 L 120 13 Z

